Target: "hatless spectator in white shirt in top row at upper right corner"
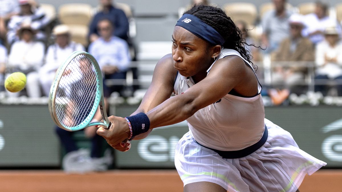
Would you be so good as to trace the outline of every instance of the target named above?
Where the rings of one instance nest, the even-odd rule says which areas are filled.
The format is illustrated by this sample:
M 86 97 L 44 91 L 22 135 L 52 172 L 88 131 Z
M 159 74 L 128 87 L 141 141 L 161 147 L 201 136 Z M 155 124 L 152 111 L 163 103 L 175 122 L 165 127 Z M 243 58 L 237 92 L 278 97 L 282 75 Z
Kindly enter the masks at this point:
M 304 17 L 305 28 L 303 30 L 303 36 L 310 38 L 314 44 L 324 40 L 324 29 L 331 25 L 336 25 L 338 33 L 341 33 L 341 27 L 338 25 L 338 21 L 329 17 L 328 5 L 317 1 L 314 13 L 305 15 Z

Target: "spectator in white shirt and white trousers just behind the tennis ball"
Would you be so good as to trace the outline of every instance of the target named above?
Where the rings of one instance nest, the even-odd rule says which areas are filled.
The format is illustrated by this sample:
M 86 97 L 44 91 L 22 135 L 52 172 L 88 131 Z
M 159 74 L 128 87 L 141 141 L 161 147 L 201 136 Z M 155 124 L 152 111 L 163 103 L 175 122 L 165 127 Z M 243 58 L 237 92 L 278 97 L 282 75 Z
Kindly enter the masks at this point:
M 27 95 L 29 97 L 40 97 L 38 69 L 43 64 L 45 46 L 42 42 L 34 41 L 34 35 L 35 31 L 30 27 L 30 24 L 24 24 L 18 30 L 20 40 L 14 42 L 11 47 L 6 76 L 17 71 L 25 73 Z M 8 94 L 11 97 L 19 96 L 19 92 L 8 92 Z

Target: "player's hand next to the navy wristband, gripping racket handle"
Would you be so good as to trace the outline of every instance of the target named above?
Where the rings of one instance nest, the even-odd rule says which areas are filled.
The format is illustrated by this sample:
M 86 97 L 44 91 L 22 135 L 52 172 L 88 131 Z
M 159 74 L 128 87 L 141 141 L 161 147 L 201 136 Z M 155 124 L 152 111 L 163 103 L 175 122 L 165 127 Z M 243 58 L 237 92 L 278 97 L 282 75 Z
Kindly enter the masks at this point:
M 126 119 L 112 115 L 108 117 L 108 120 L 112 123 L 111 127 L 104 129 L 100 126 L 96 133 L 105 138 L 107 143 L 116 149 L 116 146 L 120 145 L 122 141 L 127 140 L 131 133 Z

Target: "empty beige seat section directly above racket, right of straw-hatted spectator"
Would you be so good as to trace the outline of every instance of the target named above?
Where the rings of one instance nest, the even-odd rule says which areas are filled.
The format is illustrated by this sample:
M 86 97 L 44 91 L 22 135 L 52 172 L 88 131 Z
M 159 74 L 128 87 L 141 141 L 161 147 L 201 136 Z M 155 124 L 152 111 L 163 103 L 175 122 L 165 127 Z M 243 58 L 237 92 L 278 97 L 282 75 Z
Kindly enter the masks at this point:
M 73 25 L 69 24 L 71 33 L 71 40 L 81 43 L 83 46 L 88 46 L 88 26 L 87 25 Z

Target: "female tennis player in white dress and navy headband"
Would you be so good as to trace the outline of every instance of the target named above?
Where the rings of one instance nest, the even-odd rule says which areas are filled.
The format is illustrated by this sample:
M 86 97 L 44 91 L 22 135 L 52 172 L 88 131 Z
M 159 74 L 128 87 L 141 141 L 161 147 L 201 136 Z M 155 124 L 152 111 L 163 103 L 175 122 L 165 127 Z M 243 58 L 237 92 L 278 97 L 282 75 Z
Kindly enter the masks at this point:
M 120 141 L 187 120 L 189 132 L 175 153 L 184 191 L 297 191 L 305 174 L 326 163 L 265 119 L 261 85 L 242 42 L 223 10 L 192 7 L 177 21 L 172 54 L 156 65 L 139 108 L 127 118 L 110 116 L 113 127 L 97 134 L 125 151 Z

